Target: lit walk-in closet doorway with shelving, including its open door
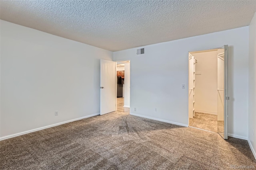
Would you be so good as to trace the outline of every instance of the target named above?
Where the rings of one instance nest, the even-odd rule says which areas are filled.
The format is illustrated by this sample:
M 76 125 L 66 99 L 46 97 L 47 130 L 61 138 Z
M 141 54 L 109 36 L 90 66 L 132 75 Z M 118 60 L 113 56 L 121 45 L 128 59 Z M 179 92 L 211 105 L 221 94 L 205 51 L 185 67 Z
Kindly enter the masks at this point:
M 228 45 L 189 52 L 189 126 L 228 139 Z

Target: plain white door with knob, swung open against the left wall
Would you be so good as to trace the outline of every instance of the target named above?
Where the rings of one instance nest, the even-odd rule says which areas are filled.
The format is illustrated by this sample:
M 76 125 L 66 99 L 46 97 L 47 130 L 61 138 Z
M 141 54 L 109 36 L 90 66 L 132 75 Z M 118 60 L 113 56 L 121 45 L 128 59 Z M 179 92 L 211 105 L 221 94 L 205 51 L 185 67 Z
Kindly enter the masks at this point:
M 116 62 L 100 60 L 100 115 L 116 111 Z

